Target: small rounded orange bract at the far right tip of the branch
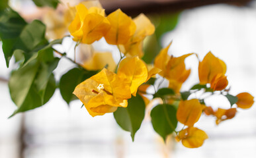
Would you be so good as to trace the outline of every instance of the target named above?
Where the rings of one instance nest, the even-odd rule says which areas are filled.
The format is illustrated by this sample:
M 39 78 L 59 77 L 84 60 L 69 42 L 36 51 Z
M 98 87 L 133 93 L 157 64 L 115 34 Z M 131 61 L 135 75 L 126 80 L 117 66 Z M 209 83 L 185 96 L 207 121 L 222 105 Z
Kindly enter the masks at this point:
M 247 92 L 239 93 L 236 95 L 238 98 L 238 101 L 236 102 L 237 107 L 241 109 L 248 109 L 250 108 L 254 103 L 254 97 Z

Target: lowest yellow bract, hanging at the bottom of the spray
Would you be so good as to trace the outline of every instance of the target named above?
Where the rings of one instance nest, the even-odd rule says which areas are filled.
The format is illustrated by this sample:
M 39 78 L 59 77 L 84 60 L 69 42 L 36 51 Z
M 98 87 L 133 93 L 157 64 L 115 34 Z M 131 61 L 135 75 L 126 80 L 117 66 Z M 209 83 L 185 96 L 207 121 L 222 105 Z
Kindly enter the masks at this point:
M 189 127 L 179 132 L 176 140 L 181 141 L 185 147 L 195 148 L 204 144 L 204 140 L 208 138 L 206 132 L 196 127 Z

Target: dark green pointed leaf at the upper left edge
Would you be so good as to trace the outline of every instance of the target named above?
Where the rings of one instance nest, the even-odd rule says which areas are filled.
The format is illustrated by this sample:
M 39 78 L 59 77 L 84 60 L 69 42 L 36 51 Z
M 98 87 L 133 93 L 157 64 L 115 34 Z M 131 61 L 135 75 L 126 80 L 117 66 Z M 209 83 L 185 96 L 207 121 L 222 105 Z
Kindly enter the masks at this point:
M 0 38 L 3 41 L 2 47 L 7 67 L 13 52 L 17 49 L 17 41 L 25 26 L 24 19 L 12 9 L 5 9 L 0 14 Z

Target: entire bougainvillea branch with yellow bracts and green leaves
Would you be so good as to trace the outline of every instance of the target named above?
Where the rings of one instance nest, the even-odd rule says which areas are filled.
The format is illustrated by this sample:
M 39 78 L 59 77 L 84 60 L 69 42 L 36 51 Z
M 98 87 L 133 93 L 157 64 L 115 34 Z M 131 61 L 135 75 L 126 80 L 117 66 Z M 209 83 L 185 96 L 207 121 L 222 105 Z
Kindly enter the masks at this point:
M 56 8 L 59 2 L 34 0 L 34 3 Z M 237 109 L 248 109 L 254 103 L 249 93 L 230 94 L 226 64 L 211 52 L 202 61 L 198 59 L 198 84 L 186 92 L 181 92 L 181 86 L 191 70 L 186 68 L 185 59 L 198 57 L 196 53 L 173 57 L 168 54 L 169 43 L 147 65 L 142 58 L 143 43 L 155 32 L 155 26 L 144 14 L 131 18 L 117 9 L 106 15 L 99 1 L 85 1 L 67 7 L 64 19 L 59 22 L 64 29 L 52 29 L 59 39 L 49 41 L 45 24 L 40 20 L 26 22 L 8 6 L 8 1 L 1 1 L 0 37 L 5 61 L 9 67 L 14 57 L 18 67 L 9 78 L 11 99 L 17 105 L 11 117 L 44 105 L 56 88 L 60 88 L 68 104 L 80 99 L 92 117 L 113 113 L 119 126 L 131 133 L 132 140 L 149 109 L 153 129 L 163 140 L 175 134 L 177 141 L 193 148 L 200 147 L 208 138 L 206 132 L 194 126 L 201 115 L 213 116 L 219 124 L 235 117 Z M 102 38 L 109 45 L 116 45 L 120 54 L 118 63 L 114 62 L 112 53 L 103 52 L 93 52 L 90 59 L 77 63 L 54 49 L 53 45 L 62 43 L 67 30 L 69 38 L 76 42 L 75 47 L 87 44 L 93 49 L 91 44 Z M 52 72 L 62 58 L 76 66 L 56 84 Z M 169 86 L 162 88 L 164 81 Z M 201 95 L 193 95 L 196 93 Z M 223 95 L 230 102 L 230 109 L 213 109 L 206 105 L 202 94 Z M 154 105 L 152 100 L 156 102 Z M 178 122 L 184 125 L 181 130 L 177 130 Z

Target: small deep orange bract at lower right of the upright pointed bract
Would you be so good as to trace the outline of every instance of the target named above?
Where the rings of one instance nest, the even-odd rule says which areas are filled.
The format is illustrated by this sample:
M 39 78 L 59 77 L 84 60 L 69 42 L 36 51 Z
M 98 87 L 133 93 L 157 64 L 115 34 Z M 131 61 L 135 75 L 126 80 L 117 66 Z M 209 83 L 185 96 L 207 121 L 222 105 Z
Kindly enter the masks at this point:
M 214 91 L 224 90 L 227 86 L 228 80 L 224 74 L 216 74 L 210 83 L 210 88 Z

